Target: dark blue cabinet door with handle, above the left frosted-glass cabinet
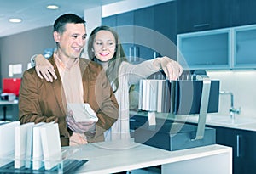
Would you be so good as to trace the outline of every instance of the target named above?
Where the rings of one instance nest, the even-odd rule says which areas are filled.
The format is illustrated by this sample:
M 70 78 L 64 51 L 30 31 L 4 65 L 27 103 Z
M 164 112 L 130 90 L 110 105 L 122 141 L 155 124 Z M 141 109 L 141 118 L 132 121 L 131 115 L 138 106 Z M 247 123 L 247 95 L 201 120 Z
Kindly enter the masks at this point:
M 231 26 L 234 1 L 177 0 L 177 33 Z

